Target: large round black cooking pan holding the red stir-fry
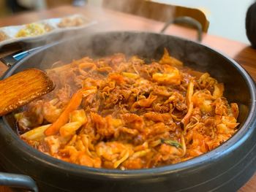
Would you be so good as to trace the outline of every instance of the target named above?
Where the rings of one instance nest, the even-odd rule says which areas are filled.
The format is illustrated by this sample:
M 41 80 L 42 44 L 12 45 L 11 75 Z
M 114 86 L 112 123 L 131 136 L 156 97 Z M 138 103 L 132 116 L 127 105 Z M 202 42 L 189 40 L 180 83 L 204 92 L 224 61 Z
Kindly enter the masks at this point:
M 178 37 L 146 32 L 108 32 L 57 42 L 12 66 L 4 77 L 24 69 L 48 69 L 85 55 L 113 53 L 159 59 L 164 47 L 185 66 L 225 83 L 228 101 L 239 104 L 239 131 L 209 153 L 154 169 L 94 169 L 40 153 L 19 139 L 13 115 L 0 119 L 0 163 L 8 172 L 26 174 L 41 191 L 236 191 L 256 169 L 255 84 L 235 61 L 209 47 Z

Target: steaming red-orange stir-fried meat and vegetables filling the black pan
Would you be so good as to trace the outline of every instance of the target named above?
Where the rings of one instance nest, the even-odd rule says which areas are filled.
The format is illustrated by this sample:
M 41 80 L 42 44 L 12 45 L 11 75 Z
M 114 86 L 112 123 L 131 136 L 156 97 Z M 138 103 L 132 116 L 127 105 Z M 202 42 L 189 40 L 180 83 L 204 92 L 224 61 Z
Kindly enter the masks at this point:
M 73 164 L 145 169 L 187 161 L 237 131 L 224 85 L 170 57 L 82 58 L 49 69 L 56 90 L 17 113 L 20 137 Z

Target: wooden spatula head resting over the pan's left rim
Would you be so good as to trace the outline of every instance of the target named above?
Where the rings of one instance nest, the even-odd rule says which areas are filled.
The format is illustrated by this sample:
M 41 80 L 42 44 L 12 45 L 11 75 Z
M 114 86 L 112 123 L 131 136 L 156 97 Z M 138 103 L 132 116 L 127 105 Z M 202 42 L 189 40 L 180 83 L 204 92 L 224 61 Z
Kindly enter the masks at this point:
M 53 91 L 54 88 L 53 81 L 39 69 L 26 69 L 1 80 L 0 116 Z

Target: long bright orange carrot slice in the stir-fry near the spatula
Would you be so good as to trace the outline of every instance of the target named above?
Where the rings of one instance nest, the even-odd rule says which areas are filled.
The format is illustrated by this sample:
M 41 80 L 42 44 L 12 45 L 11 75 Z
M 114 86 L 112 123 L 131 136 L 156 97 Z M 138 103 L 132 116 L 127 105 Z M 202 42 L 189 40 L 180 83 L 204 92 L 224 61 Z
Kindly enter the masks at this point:
M 69 121 L 69 113 L 78 109 L 83 99 L 83 89 L 78 90 L 73 94 L 72 98 L 67 104 L 67 107 L 61 113 L 59 118 L 45 130 L 45 136 L 57 134 L 61 126 L 64 126 Z

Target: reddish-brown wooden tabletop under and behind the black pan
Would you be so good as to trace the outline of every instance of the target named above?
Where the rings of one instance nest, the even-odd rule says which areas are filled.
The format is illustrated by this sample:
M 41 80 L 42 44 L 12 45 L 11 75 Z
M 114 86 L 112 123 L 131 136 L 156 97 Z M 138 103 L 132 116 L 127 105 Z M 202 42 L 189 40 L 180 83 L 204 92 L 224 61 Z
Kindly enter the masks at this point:
M 164 23 L 155 20 L 148 20 L 135 15 L 127 15 L 121 12 L 114 12 L 108 9 L 97 7 L 58 7 L 55 9 L 44 10 L 41 12 L 28 12 L 21 15 L 15 15 L 10 18 L 4 18 L 0 21 L 1 26 L 20 25 L 24 23 L 31 23 L 45 18 L 58 18 L 65 15 L 80 13 L 97 20 L 97 25 L 94 26 L 95 31 L 154 31 L 158 32 L 163 27 Z M 241 29 L 242 30 L 242 29 Z M 244 29 L 245 30 L 245 29 Z M 167 28 L 166 34 L 172 34 L 187 39 L 196 39 L 197 32 L 190 28 L 181 26 L 170 26 Z M 241 66 L 243 66 L 253 79 L 256 80 L 256 50 L 249 45 L 233 40 L 216 37 L 209 34 L 203 34 L 204 45 L 213 47 L 216 50 L 225 53 L 230 58 L 233 58 Z M 0 49 L 0 58 L 14 50 Z M 7 70 L 4 64 L 0 64 L 0 74 Z M 8 188 L 0 187 L 0 192 L 10 191 Z M 256 191 L 256 176 L 252 177 L 239 192 L 253 192 Z

